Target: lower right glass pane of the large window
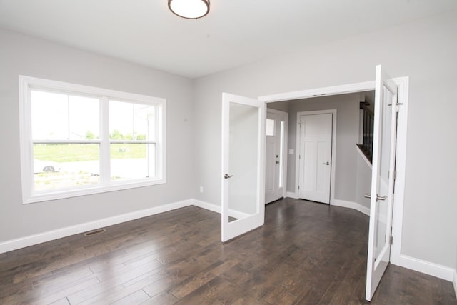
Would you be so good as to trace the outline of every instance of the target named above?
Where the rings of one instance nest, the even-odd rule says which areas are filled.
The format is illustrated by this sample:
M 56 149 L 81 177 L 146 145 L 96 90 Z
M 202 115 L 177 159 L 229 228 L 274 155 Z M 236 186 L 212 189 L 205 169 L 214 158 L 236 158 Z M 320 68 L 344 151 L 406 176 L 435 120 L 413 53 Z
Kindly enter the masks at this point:
M 156 144 L 111 144 L 111 180 L 156 177 Z

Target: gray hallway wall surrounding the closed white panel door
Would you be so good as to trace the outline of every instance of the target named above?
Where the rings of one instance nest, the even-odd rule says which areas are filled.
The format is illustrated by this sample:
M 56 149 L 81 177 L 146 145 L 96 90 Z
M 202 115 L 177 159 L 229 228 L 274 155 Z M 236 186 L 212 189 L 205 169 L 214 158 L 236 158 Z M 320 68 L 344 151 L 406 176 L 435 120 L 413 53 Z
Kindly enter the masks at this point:
M 295 154 L 288 155 L 287 191 L 296 189 L 296 131 L 297 112 L 336 109 L 336 169 L 335 199 L 354 201 L 356 194 L 356 154 L 358 141 L 359 94 L 323 96 L 313 99 L 291 101 L 288 111 L 288 149 Z

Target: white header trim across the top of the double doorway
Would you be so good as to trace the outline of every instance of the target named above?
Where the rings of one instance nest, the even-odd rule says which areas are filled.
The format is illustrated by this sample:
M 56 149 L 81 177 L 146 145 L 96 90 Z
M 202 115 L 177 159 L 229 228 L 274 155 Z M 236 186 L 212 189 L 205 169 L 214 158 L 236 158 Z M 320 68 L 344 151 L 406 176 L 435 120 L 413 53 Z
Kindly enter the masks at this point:
M 258 99 L 272 103 L 274 101 L 290 101 L 292 99 L 308 99 L 310 97 L 331 96 L 339 94 L 350 94 L 355 92 L 371 91 L 374 89 L 374 81 L 365 81 L 363 83 L 345 84 L 340 86 L 322 87 L 316 89 L 307 89 L 301 91 L 292 91 L 281 94 L 271 94 L 260 96 Z

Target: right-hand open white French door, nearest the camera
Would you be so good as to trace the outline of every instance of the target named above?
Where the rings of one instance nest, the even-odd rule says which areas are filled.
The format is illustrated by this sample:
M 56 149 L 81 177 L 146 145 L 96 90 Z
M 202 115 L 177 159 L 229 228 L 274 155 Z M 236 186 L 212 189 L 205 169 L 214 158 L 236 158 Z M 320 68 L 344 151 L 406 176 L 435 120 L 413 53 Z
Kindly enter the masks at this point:
M 391 254 L 393 184 L 396 154 L 397 86 L 376 66 L 366 300 L 371 301 Z

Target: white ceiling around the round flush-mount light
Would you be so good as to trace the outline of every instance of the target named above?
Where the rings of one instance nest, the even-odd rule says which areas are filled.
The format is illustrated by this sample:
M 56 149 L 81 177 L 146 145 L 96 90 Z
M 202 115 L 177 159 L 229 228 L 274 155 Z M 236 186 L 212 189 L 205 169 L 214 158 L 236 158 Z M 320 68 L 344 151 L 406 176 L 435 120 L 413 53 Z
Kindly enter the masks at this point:
M 196 78 L 453 9 L 456 0 L 211 0 L 208 16 L 188 20 L 167 0 L 0 0 L 0 27 Z

